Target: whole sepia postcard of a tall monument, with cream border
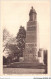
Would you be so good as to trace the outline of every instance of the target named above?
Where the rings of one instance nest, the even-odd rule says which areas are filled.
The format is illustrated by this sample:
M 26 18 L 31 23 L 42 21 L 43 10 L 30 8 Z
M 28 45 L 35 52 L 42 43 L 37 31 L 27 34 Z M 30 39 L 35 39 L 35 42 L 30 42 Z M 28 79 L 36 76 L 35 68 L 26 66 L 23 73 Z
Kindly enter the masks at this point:
M 48 74 L 49 0 L 1 1 L 3 74 Z

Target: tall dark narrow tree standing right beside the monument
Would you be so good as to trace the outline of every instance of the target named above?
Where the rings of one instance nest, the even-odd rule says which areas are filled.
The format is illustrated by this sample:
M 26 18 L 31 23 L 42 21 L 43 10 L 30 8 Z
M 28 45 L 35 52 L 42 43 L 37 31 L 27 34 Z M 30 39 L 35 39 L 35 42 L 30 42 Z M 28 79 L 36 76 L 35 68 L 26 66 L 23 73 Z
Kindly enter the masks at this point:
M 18 59 L 23 56 L 23 50 L 25 48 L 25 38 L 26 38 L 26 30 L 24 27 L 20 26 L 19 32 L 17 34 L 17 47 L 18 47 Z

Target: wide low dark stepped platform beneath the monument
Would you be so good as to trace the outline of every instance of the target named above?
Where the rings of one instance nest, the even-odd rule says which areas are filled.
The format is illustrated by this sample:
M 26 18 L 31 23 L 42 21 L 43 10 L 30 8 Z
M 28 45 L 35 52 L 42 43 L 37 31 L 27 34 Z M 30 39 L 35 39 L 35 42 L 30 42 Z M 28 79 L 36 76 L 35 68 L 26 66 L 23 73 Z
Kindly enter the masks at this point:
M 7 67 L 11 68 L 36 68 L 36 69 L 43 69 L 45 65 L 42 63 L 30 63 L 30 62 L 14 62 L 8 65 Z

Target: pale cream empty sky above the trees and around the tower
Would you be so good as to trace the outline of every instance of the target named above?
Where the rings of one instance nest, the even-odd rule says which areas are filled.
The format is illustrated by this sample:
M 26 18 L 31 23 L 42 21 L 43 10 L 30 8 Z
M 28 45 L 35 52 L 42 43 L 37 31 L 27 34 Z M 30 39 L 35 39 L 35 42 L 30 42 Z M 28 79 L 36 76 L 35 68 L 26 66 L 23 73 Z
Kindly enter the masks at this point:
M 40 48 L 49 49 L 50 43 L 50 3 L 49 0 L 1 1 L 1 25 L 10 34 L 16 36 L 20 26 L 27 27 L 29 11 L 31 7 L 37 12 L 37 24 L 39 28 Z

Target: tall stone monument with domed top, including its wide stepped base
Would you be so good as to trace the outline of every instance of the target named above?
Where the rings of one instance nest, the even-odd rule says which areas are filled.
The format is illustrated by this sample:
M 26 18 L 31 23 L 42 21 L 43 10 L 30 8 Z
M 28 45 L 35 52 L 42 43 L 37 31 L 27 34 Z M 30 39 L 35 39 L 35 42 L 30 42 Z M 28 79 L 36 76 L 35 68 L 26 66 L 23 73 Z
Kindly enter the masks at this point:
M 39 52 L 38 52 L 39 51 Z M 40 60 L 41 62 L 40 62 Z M 37 13 L 32 7 L 29 12 L 29 21 L 27 22 L 25 49 L 23 57 L 20 57 L 17 67 L 34 67 L 44 65 L 43 52 L 38 49 L 38 26 Z

